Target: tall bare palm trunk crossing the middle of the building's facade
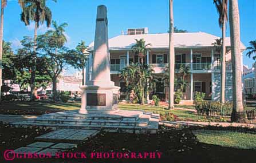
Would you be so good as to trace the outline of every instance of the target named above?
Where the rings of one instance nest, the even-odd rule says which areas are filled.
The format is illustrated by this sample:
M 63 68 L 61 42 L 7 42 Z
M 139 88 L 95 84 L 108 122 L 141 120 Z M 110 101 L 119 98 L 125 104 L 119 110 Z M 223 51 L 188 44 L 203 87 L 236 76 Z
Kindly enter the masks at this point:
M 169 33 L 169 109 L 174 109 L 174 10 L 173 0 L 169 0 L 170 33 Z

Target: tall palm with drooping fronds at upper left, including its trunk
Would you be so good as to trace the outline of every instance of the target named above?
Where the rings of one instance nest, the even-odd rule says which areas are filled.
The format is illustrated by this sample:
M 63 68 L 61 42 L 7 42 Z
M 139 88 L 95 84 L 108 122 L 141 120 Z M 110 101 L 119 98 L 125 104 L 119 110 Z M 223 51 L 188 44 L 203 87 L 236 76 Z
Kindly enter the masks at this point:
M 56 0 L 53 0 L 56 2 Z M 25 25 L 30 25 L 30 22 L 35 23 L 34 27 L 34 53 L 33 53 L 33 67 L 31 69 L 31 100 L 34 100 L 35 96 L 37 96 L 37 89 L 35 86 L 36 80 L 36 65 L 37 65 L 37 29 L 41 24 L 46 22 L 46 25 L 50 27 L 50 23 L 52 21 L 52 12 L 49 7 L 46 6 L 46 0 L 19 0 L 19 5 L 21 6 L 21 21 L 25 23 Z

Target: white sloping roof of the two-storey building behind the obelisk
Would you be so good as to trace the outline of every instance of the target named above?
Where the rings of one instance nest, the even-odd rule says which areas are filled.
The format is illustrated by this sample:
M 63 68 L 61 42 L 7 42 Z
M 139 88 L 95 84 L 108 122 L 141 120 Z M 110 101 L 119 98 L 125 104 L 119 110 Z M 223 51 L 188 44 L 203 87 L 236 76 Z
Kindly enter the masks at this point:
M 139 34 L 139 35 L 119 35 L 109 39 L 109 50 L 131 49 L 135 45 L 135 39 L 145 39 L 146 43 L 151 43 L 152 49 L 168 49 L 169 34 Z M 188 47 L 209 47 L 219 37 L 204 33 L 174 33 L 174 46 L 178 48 Z M 89 49 L 93 49 L 93 42 L 90 43 Z M 241 49 L 245 50 L 245 45 L 241 42 Z M 230 38 L 226 38 L 226 46 L 230 46 Z

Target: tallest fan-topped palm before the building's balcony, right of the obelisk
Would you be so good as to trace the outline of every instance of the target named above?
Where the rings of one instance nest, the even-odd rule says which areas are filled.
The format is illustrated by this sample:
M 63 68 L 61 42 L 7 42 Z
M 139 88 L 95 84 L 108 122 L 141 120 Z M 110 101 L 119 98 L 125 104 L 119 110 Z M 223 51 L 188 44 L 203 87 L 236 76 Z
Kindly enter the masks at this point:
M 141 71 L 140 69 L 144 69 L 144 57 L 147 54 L 147 51 L 149 51 L 149 47 L 151 46 L 150 43 L 145 43 L 144 39 L 135 39 L 136 44 L 132 46 L 132 51 L 135 55 L 138 55 L 141 61 L 141 65 L 139 64 L 139 73 L 140 76 L 143 76 L 143 71 Z M 142 74 L 141 74 L 142 73 Z M 143 84 L 141 83 L 141 79 L 140 79 L 140 92 L 142 94 L 141 96 L 141 104 L 144 105 L 144 88 L 143 88 Z

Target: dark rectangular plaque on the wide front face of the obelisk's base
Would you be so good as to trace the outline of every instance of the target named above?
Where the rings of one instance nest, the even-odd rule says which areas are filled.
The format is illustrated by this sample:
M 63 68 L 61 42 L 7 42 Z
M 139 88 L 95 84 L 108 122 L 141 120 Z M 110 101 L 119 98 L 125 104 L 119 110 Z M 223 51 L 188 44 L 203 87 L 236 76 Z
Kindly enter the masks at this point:
M 106 94 L 104 93 L 87 93 L 88 106 L 106 106 Z

